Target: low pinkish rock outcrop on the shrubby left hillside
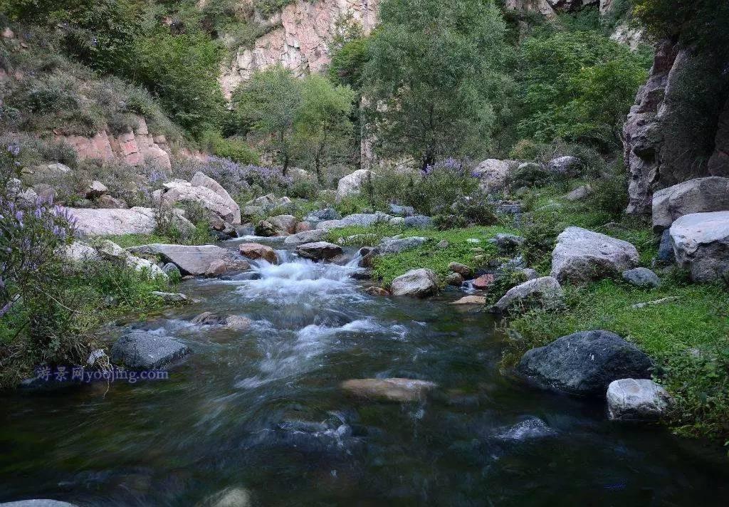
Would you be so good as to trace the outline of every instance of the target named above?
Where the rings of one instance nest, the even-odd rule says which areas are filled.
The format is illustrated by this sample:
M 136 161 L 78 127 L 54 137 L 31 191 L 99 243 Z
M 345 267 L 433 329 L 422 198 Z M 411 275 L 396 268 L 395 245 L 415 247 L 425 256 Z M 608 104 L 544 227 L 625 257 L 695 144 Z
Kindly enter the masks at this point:
M 149 133 L 143 117 L 136 117 L 136 123 L 132 130 L 117 135 L 101 131 L 93 137 L 58 135 L 55 140 L 73 147 L 81 160 L 118 159 L 130 166 L 141 166 L 147 161 L 171 169 L 172 151 L 165 136 Z

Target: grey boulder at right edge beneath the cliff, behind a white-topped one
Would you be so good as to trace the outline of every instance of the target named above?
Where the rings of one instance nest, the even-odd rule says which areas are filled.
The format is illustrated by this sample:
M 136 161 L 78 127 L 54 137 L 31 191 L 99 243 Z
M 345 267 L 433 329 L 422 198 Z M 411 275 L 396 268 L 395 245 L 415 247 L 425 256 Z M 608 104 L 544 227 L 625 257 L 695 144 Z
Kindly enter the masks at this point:
M 653 194 L 653 229 L 663 231 L 685 214 L 729 209 L 729 178 L 690 179 Z

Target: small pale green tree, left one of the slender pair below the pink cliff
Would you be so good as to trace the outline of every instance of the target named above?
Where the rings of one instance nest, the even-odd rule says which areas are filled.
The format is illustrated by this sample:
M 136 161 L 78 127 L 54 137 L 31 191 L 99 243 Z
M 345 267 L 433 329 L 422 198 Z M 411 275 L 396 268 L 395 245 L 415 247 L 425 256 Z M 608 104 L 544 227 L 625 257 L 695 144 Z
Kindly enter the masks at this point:
M 256 72 L 233 94 L 238 131 L 256 134 L 286 174 L 301 105 L 301 80 L 281 66 Z

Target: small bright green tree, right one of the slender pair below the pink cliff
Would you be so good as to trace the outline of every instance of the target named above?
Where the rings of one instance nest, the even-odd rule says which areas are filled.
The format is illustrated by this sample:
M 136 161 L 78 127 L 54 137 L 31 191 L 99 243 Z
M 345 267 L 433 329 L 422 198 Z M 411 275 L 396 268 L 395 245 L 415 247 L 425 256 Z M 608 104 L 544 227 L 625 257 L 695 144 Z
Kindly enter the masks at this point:
M 313 166 L 323 182 L 322 166 L 348 151 L 352 124 L 349 112 L 354 92 L 346 86 L 332 85 L 326 78 L 312 74 L 301 88 L 301 104 L 295 123 L 298 156 Z

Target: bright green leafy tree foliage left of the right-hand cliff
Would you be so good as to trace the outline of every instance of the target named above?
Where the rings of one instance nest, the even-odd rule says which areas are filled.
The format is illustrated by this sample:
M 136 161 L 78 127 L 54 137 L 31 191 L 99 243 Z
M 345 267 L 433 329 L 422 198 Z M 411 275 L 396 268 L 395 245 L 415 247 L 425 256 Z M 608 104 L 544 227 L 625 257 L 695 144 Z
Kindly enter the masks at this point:
M 597 31 L 543 31 L 524 42 L 521 136 L 564 138 L 609 149 L 649 62 Z

